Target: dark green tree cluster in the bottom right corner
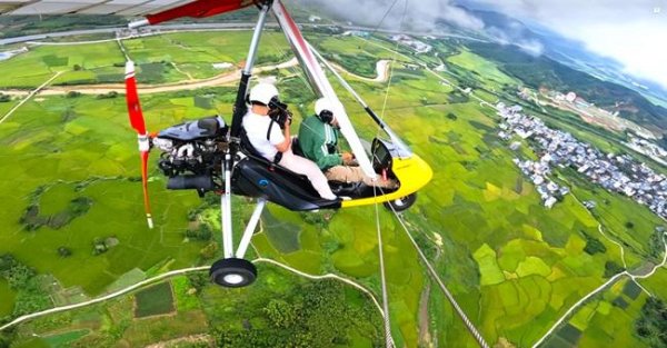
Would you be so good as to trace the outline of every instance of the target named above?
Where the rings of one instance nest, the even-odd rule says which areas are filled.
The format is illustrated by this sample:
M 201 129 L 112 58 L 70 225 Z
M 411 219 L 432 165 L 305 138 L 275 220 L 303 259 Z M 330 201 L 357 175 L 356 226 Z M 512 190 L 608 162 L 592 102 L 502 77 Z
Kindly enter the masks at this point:
M 651 348 L 667 347 L 667 305 L 659 298 L 649 297 L 641 307 L 635 330 Z

